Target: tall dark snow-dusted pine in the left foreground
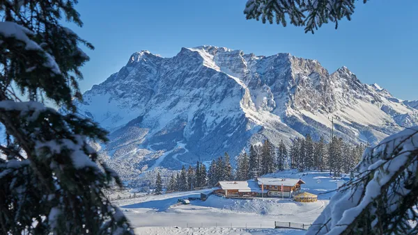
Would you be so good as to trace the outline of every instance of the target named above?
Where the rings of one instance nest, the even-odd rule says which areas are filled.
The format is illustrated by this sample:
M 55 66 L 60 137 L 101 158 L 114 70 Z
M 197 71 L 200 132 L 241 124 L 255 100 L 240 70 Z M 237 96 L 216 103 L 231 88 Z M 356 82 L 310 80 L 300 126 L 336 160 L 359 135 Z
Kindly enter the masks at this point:
M 2 234 L 132 234 L 103 192 L 122 182 L 88 145 L 106 142 L 107 132 L 73 104 L 82 97 L 79 68 L 89 60 L 78 45 L 93 49 L 61 25 L 65 18 L 82 26 L 75 4 L 0 1 Z M 47 108 L 44 98 L 66 114 Z

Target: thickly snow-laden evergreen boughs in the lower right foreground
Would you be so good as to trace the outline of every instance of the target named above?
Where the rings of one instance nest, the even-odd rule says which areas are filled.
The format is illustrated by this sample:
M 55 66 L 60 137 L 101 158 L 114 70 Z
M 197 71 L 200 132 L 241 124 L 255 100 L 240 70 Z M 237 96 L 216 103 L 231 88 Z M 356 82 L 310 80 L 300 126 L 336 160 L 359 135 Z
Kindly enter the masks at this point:
M 418 234 L 418 127 L 368 147 L 307 235 Z

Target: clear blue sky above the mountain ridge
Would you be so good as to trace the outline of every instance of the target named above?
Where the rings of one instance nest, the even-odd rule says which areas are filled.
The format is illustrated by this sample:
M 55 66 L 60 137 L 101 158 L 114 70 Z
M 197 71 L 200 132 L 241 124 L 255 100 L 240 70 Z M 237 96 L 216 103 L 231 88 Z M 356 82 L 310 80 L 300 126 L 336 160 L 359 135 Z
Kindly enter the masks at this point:
M 211 44 L 245 53 L 289 52 L 333 72 L 346 65 L 365 83 L 378 83 L 400 99 L 418 99 L 417 0 L 357 1 L 351 22 L 302 28 L 246 20 L 245 0 L 79 1 L 84 27 L 70 28 L 95 45 L 82 69 L 82 91 L 123 67 L 135 51 L 164 57 L 181 47 Z

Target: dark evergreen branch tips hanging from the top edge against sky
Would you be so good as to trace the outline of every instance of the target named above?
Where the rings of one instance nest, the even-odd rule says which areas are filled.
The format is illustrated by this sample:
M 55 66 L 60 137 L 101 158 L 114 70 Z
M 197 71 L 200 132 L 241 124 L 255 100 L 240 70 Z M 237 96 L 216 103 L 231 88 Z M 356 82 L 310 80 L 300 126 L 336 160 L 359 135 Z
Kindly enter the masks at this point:
M 367 0 L 363 0 L 366 3 Z M 303 26 L 305 33 L 314 33 L 323 24 L 335 23 L 346 18 L 351 19 L 356 0 L 247 0 L 244 14 L 247 19 L 261 19 L 261 22 L 281 24 L 288 22 L 294 26 Z

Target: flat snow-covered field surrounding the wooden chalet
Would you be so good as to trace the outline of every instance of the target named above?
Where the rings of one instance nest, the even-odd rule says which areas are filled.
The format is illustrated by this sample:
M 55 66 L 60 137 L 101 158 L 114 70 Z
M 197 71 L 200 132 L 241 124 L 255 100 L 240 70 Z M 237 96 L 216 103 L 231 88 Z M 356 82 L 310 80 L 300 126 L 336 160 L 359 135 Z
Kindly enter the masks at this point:
M 304 234 L 300 230 L 274 228 L 274 221 L 310 224 L 327 205 L 336 188 L 328 172 L 284 171 L 269 177 L 301 178 L 302 191 L 318 195 L 318 202 L 302 203 L 281 198 L 240 200 L 211 195 L 205 202 L 177 204 L 179 198 L 199 196 L 202 191 L 146 195 L 118 200 L 138 234 Z M 179 228 L 176 228 L 179 227 Z M 200 227 L 200 228 L 199 228 Z M 231 229 L 232 228 L 232 229 Z M 247 228 L 247 229 L 245 229 Z

